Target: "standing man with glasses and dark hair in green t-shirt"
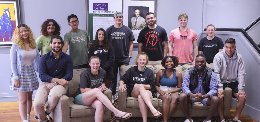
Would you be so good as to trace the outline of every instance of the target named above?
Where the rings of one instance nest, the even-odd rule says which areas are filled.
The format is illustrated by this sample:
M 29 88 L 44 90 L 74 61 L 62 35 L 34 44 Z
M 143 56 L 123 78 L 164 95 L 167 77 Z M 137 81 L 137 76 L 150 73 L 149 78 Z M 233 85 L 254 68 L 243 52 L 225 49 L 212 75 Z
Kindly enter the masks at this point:
M 73 69 L 89 68 L 88 48 L 90 38 L 86 30 L 79 29 L 78 17 L 74 14 L 68 16 L 71 30 L 64 36 L 64 47 L 62 52 L 66 53 L 69 46 L 69 55 L 73 61 Z

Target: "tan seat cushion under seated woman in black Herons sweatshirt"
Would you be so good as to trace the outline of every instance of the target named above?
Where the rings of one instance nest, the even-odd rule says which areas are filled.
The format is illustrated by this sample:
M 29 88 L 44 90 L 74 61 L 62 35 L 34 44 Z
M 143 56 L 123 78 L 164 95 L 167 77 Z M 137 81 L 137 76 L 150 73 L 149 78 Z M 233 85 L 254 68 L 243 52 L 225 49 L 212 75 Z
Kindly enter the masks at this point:
M 158 108 L 158 99 L 157 98 L 152 98 L 151 102 L 152 102 L 152 105 L 154 106 L 154 108 Z M 126 98 L 126 107 L 139 109 L 138 98 L 135 98 L 135 97 Z

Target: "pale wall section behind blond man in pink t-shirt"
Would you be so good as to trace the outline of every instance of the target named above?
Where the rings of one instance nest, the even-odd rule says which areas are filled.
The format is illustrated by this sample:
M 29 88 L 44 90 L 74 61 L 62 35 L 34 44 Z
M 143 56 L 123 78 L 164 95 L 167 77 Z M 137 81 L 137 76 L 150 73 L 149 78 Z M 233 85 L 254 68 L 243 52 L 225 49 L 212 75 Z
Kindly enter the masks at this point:
M 180 27 L 178 16 L 188 15 L 187 27 L 199 34 L 202 30 L 203 0 L 158 0 L 156 21 L 163 27 L 167 36 L 173 29 Z

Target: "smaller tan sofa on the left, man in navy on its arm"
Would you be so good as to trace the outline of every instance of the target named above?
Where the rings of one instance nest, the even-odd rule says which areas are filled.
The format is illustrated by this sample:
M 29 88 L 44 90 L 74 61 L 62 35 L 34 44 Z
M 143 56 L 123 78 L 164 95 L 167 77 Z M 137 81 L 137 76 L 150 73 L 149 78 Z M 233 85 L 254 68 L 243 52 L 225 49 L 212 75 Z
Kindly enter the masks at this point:
M 68 91 L 66 95 L 62 95 L 57 106 L 50 117 L 54 122 L 95 122 L 95 109 L 90 106 L 82 106 L 74 104 L 73 95 L 79 88 L 80 74 L 85 69 L 73 69 L 73 78 L 69 81 Z M 112 102 L 112 91 L 110 89 L 104 91 L 104 94 Z M 109 122 L 111 111 L 104 107 L 103 121 Z

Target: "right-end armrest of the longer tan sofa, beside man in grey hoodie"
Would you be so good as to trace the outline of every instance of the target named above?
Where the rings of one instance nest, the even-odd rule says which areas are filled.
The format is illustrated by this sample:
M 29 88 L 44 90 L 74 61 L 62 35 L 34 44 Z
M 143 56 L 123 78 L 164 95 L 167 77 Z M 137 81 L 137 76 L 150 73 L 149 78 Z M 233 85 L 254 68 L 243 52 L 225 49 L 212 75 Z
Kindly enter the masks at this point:
M 232 89 L 226 87 L 224 89 L 225 95 L 223 99 L 224 103 L 224 116 L 228 116 L 231 109 L 231 103 L 232 103 Z

